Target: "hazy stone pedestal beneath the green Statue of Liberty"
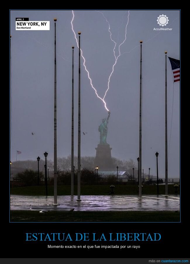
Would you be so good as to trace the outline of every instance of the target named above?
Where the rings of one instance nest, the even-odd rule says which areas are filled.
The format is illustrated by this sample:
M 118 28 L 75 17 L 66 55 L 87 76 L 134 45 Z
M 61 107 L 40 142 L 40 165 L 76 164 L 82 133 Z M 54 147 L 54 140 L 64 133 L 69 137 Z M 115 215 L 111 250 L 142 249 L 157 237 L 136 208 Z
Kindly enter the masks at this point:
M 113 161 L 111 158 L 110 145 L 98 144 L 96 149 L 96 158 L 94 161 L 94 166 L 98 166 L 100 171 L 111 171 L 114 168 Z

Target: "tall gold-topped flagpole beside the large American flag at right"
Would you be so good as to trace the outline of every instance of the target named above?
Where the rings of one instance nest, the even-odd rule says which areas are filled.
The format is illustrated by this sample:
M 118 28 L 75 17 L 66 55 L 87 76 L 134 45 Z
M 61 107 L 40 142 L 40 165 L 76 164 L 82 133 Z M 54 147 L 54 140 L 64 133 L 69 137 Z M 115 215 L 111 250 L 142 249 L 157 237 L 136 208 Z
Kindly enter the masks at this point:
M 168 184 L 167 184 L 167 51 L 165 51 L 165 195 L 168 195 Z

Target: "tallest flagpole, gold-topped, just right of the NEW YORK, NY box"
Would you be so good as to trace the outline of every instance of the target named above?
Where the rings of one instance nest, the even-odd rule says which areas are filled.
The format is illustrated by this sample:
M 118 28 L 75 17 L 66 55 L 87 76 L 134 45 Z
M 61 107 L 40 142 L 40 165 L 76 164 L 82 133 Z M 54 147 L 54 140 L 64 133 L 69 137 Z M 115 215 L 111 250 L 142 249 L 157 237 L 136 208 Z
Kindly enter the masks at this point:
M 56 21 L 55 21 L 55 41 L 54 41 L 54 205 L 57 205 L 57 94 L 56 94 Z

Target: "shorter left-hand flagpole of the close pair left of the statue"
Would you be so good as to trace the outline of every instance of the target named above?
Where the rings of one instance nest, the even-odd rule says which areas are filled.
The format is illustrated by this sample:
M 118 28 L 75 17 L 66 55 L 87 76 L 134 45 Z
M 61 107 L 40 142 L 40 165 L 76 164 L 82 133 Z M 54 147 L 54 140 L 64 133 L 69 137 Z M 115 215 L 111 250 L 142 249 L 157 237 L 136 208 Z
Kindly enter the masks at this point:
M 72 46 L 71 196 L 74 195 L 74 47 Z

